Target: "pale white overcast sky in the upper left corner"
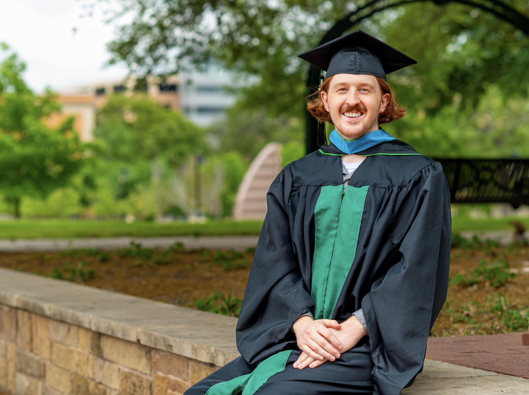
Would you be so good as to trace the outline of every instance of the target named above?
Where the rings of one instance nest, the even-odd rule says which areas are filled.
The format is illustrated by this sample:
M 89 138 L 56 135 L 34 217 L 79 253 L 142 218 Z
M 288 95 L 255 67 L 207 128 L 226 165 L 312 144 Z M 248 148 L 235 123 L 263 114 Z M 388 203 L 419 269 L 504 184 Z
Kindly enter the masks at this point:
M 115 26 L 104 23 L 97 0 L 91 1 L 96 4 L 93 16 L 86 16 L 83 5 L 88 2 L 0 2 L 0 42 L 7 43 L 25 61 L 24 79 L 36 92 L 46 86 L 60 90 L 126 75 L 124 66 L 105 67 L 110 58 L 105 44 L 114 38 Z

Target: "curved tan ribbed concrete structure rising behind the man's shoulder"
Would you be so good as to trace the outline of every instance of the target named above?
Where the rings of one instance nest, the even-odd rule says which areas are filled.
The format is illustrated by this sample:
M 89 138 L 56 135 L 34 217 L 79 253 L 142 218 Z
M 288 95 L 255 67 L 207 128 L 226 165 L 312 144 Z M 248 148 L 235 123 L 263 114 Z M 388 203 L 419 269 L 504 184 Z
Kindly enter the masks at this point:
M 233 205 L 234 219 L 263 219 L 267 212 L 266 194 L 281 170 L 281 144 L 268 143 L 244 174 Z

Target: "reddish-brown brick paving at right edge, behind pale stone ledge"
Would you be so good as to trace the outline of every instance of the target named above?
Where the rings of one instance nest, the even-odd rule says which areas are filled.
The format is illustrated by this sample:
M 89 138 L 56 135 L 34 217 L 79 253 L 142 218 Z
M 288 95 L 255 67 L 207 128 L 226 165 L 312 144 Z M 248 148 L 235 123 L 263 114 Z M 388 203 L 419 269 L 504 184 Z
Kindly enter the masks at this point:
M 529 346 L 521 332 L 430 337 L 426 358 L 529 379 Z

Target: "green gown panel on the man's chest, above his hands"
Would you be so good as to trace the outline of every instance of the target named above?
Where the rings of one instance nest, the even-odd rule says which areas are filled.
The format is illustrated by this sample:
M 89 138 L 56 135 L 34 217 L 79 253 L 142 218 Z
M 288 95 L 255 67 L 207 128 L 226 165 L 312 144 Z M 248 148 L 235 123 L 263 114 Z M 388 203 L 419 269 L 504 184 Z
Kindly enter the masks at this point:
M 322 187 L 314 209 L 316 236 L 311 297 L 314 319 L 331 319 L 357 252 L 363 207 L 369 186 Z

